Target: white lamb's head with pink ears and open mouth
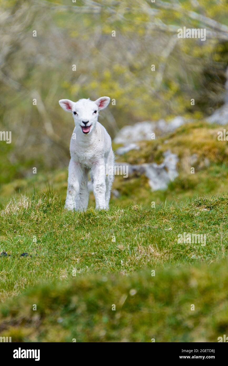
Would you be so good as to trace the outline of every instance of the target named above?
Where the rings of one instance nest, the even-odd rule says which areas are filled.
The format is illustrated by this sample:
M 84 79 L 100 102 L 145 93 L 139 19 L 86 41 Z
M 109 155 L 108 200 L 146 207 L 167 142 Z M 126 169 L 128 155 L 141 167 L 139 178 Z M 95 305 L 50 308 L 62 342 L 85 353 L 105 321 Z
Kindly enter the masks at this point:
M 106 108 L 109 102 L 109 97 L 101 97 L 94 102 L 90 99 L 80 99 L 77 102 L 61 99 L 59 104 L 64 111 L 72 113 L 76 129 L 83 134 L 89 134 L 96 126 L 98 112 Z

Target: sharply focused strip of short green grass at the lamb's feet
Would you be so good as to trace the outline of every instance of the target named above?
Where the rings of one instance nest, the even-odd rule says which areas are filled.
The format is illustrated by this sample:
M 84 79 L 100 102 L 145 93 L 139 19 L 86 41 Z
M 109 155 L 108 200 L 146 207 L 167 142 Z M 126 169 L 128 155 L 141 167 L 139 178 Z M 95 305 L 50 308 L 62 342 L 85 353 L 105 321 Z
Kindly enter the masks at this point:
M 131 205 L 99 212 L 90 207 L 82 213 L 65 210 L 53 193 L 21 196 L 1 211 L 0 250 L 10 256 L 0 257 L 0 300 L 40 281 L 70 279 L 73 270 L 77 276 L 128 274 L 213 262 L 228 247 L 227 212 L 227 196 L 150 209 Z M 178 244 L 183 232 L 206 234 L 206 246 Z M 20 257 L 25 252 L 29 256 Z

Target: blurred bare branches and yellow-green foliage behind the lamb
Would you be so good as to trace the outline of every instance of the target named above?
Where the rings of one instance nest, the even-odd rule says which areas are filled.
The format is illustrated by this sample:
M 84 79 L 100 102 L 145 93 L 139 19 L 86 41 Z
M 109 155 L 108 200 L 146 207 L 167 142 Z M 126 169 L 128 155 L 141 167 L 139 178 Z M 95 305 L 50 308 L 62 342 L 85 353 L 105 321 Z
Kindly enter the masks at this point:
M 74 125 L 61 98 L 115 99 L 99 117 L 112 138 L 143 120 L 202 120 L 224 102 L 225 0 L 2 0 L 0 20 L 0 130 L 12 131 L 0 184 L 67 167 Z M 177 38 L 183 26 L 206 28 L 206 41 Z

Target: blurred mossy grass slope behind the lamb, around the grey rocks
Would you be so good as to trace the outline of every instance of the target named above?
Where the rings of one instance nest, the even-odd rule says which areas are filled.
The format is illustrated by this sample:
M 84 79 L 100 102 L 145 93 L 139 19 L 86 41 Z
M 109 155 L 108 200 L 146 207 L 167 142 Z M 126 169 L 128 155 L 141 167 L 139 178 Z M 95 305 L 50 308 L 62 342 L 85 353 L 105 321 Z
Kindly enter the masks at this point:
M 111 206 L 124 207 L 134 203 L 149 208 L 152 201 L 156 204 L 165 201 L 177 203 L 205 194 L 227 193 L 228 141 L 217 140 L 217 132 L 223 131 L 224 128 L 227 127 L 203 122 L 189 123 L 164 137 L 139 142 L 140 150 L 131 150 L 122 156 L 116 156 L 116 161 L 126 161 L 130 164 L 161 163 L 164 159 L 163 153 L 171 150 L 179 158 L 177 164 L 179 176 L 174 182 L 169 183 L 167 190 L 155 192 L 151 191 L 148 179 L 144 175 L 139 176 L 136 173 L 128 178 L 115 176 L 113 188 L 118 190 L 120 195 L 118 198 L 112 195 Z M 113 149 L 116 147 L 113 144 Z M 1 204 L 20 193 L 48 192 L 49 186 L 57 191 L 64 201 L 67 190 L 67 167 L 56 171 L 37 168 L 37 174 L 33 174 L 33 166 L 31 165 L 29 169 L 31 174 L 26 178 L 0 184 Z M 194 174 L 191 174 L 191 167 L 195 169 Z M 89 205 L 94 206 L 93 194 L 90 194 Z

